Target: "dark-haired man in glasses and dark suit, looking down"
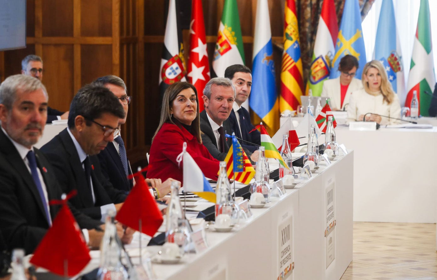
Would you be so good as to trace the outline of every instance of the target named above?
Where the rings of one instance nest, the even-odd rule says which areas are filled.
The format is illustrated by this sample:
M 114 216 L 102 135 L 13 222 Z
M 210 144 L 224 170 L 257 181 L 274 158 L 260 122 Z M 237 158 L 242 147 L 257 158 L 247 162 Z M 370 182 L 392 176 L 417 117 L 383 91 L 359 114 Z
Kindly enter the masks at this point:
M 77 190 L 71 203 L 93 219 L 104 221 L 108 210 L 118 211 L 126 198 L 103 176 L 96 156 L 114 140 L 118 121 L 124 117 L 109 89 L 86 85 L 71 102 L 68 127 L 41 147 L 62 190 Z

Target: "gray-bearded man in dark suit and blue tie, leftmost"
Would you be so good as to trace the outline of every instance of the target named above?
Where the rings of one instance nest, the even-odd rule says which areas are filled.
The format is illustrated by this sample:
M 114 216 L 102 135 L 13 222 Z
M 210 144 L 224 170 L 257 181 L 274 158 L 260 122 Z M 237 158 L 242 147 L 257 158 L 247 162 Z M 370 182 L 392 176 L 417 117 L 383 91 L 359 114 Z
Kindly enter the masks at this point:
M 60 209 L 49 205 L 61 199 L 55 170 L 33 145 L 42 135 L 47 118 L 47 92 L 31 76 L 13 75 L 0 85 L 0 225 L 9 250 L 32 253 Z M 84 230 L 88 245 L 98 247 L 101 222 L 71 207 Z M 122 230 L 120 228 L 120 230 Z

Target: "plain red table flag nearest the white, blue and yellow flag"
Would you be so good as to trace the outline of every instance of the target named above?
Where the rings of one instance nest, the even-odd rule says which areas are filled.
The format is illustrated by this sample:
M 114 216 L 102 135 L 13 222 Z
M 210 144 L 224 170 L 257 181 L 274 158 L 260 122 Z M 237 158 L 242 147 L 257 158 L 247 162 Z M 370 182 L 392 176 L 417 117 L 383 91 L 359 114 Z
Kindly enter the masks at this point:
M 142 176 L 142 171 L 129 175 L 129 177 L 135 178 L 136 184 L 115 219 L 132 229 L 153 236 L 163 223 L 163 216 L 150 194 L 149 187 Z M 139 228 L 140 219 L 141 229 Z

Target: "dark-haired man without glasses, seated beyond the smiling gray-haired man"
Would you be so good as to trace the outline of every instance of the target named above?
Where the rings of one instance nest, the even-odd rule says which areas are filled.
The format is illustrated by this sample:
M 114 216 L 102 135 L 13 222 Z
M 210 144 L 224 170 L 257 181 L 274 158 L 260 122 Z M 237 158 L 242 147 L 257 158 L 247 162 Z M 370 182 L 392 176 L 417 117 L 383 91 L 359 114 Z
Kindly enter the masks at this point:
M 241 106 L 249 98 L 252 88 L 250 69 L 245 65 L 231 65 L 225 70 L 225 78 L 232 81 L 236 91 L 235 102 L 229 115 L 232 131 L 235 132 L 236 137 L 247 141 L 241 141 L 242 147 L 254 152 L 261 145 L 261 133 L 258 130 L 253 130 L 254 126 L 250 121 L 250 114 L 246 108 Z M 253 131 L 249 133 L 251 130 Z

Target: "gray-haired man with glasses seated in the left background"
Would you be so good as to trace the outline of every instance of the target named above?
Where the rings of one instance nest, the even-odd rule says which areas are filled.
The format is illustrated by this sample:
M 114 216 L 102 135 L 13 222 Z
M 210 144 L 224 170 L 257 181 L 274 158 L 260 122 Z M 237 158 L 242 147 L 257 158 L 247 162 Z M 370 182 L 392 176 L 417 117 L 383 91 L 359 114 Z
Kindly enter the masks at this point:
M 42 81 L 42 59 L 38 55 L 28 55 L 21 61 L 21 74 L 35 77 Z M 52 123 L 54 120 L 68 119 L 68 112 L 61 112 L 47 106 L 47 123 Z

